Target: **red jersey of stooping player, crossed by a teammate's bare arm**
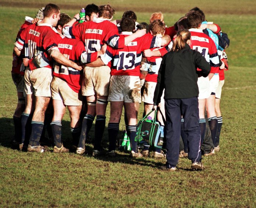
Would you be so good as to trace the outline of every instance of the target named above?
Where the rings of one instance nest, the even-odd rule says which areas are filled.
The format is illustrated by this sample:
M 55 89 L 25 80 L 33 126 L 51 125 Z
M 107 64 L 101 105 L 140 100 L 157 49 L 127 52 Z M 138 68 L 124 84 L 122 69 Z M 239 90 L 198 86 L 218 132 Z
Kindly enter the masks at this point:
M 64 38 L 58 43 L 58 49 L 69 60 L 79 63 L 81 62 L 81 54 L 85 52 L 82 41 Z M 65 80 L 72 90 L 79 92 L 82 84 L 82 71 L 78 71 L 71 67 L 66 67 L 56 62 L 54 67 L 54 76 Z

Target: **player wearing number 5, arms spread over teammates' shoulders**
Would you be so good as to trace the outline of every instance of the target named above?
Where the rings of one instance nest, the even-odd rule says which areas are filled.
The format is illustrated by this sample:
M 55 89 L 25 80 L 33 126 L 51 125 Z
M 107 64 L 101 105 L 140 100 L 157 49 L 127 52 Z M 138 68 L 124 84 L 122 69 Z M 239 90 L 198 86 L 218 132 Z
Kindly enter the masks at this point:
M 145 34 L 145 30 L 139 30 L 130 36 L 119 36 L 117 26 L 111 23 L 115 10 L 109 5 L 99 7 L 98 18 L 93 21 L 83 22 L 81 25 L 67 26 L 63 34 L 69 38 L 75 38 L 84 42 L 86 51 L 91 58 L 92 52 L 99 51 L 104 43 L 114 48 L 123 48 L 137 37 Z M 77 14 L 78 15 L 78 14 Z M 75 15 L 76 16 L 76 15 Z M 99 154 L 101 140 L 106 124 L 107 96 L 109 91 L 110 67 L 100 68 L 85 67 L 82 81 L 82 95 L 87 97 L 88 112 L 83 118 L 82 131 L 77 148 L 77 154 L 85 152 L 85 139 L 88 128 L 95 122 L 95 145 L 93 155 Z

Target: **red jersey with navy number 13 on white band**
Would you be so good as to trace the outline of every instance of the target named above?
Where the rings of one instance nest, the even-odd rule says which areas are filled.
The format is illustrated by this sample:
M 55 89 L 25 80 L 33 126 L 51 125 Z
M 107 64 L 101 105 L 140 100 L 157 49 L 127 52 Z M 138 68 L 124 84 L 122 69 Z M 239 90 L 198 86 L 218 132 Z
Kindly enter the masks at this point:
M 131 34 L 132 32 L 122 32 L 120 36 L 126 37 Z M 106 65 L 111 61 L 111 75 L 139 76 L 143 50 L 158 45 L 158 38 L 147 33 L 136 38 L 123 49 L 114 49 L 108 46 L 101 59 Z

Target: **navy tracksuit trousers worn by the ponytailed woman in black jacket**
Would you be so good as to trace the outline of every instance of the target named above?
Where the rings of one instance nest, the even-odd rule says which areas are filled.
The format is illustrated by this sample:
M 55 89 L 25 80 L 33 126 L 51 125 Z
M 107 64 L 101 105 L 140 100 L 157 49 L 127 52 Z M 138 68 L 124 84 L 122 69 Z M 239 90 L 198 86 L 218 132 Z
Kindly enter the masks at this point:
M 181 115 L 184 118 L 184 131 L 188 135 L 188 159 L 201 161 L 198 97 L 165 100 L 166 111 L 166 159 L 176 166 L 179 160 L 179 137 Z

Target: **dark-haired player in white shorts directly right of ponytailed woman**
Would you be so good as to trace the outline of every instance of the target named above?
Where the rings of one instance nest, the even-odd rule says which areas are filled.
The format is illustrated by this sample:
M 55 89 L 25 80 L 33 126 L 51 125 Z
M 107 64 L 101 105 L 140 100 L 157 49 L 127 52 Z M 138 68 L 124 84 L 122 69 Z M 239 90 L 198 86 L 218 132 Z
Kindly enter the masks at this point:
M 207 109 L 207 117 L 209 121 L 209 126 L 211 130 L 212 140 L 216 136 L 216 127 L 217 127 L 217 117 L 214 110 L 213 98 L 211 95 L 210 80 L 213 78 L 214 73 L 218 73 L 219 70 L 219 58 L 216 46 L 213 40 L 207 36 L 200 28 L 202 23 L 202 17 L 199 12 L 189 12 L 187 15 L 189 31 L 191 32 L 191 44 L 190 47 L 193 50 L 199 51 L 203 57 L 210 63 L 211 71 L 208 77 L 198 78 L 198 87 L 199 87 L 199 123 L 201 129 L 201 144 L 205 137 L 205 107 Z M 215 96 L 214 96 L 215 97 Z M 208 99 L 208 100 L 207 100 Z M 214 99 L 215 100 L 215 99 Z M 214 134 L 215 133 L 215 134 Z M 211 151 L 214 153 L 214 150 Z M 205 153 L 210 154 L 210 153 Z M 207 156 L 207 155 L 206 155 Z

